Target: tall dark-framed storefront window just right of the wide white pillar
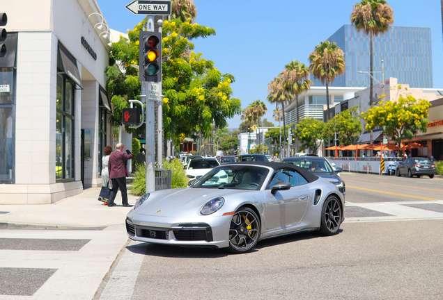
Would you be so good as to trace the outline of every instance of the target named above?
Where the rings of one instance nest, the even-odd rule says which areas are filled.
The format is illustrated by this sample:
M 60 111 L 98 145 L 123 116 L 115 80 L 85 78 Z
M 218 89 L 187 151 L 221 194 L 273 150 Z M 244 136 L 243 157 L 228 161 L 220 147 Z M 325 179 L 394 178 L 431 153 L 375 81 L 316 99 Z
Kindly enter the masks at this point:
M 57 76 L 56 179 L 74 178 L 74 83 Z

